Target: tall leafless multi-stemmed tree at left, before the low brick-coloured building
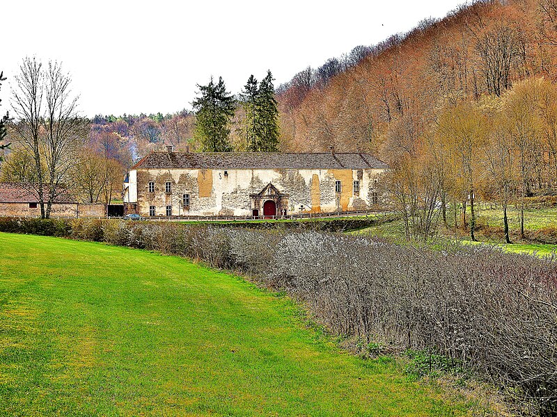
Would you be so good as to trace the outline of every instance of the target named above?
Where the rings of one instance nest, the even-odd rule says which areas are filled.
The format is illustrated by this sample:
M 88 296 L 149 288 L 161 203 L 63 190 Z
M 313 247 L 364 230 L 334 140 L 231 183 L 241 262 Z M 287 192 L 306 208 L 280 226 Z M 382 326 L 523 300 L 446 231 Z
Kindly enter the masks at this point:
M 49 218 L 52 203 L 68 186 L 70 167 L 86 138 L 88 124 L 78 116 L 71 77 L 61 65 L 43 67 L 37 58 L 25 58 L 13 89 L 14 140 L 33 156 L 40 215 Z

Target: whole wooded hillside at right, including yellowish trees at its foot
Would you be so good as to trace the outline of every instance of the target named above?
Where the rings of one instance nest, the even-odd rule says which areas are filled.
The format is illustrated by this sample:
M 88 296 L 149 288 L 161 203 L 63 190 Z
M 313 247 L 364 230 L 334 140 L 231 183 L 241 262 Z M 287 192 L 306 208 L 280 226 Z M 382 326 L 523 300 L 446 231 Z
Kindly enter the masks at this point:
M 450 209 L 476 240 L 482 198 L 502 205 L 507 242 L 519 206 L 524 238 L 527 199 L 557 190 L 556 64 L 556 0 L 478 1 L 299 72 L 278 90 L 283 149 L 388 162 L 407 237 Z

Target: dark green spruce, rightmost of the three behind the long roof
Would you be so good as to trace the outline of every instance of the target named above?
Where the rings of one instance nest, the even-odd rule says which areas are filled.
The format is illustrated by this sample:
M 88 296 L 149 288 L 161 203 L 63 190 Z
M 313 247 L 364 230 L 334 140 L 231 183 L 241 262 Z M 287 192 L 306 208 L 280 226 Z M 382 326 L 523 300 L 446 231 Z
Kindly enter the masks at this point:
M 278 105 L 271 71 L 267 71 L 267 76 L 259 84 L 255 126 L 259 142 L 257 150 L 275 152 L 278 149 Z

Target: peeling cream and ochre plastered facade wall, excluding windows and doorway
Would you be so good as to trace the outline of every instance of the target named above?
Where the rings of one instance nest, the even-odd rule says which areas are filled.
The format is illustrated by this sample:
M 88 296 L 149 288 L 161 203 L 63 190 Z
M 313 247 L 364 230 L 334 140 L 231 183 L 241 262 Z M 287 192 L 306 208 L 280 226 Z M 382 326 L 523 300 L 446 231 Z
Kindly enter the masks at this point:
M 377 190 L 377 179 L 384 170 L 183 170 L 139 169 L 130 172 L 130 202 L 137 202 L 137 211 L 149 215 L 251 215 L 251 194 L 260 193 L 272 183 L 288 195 L 288 213 L 352 211 L 370 208 Z M 354 193 L 353 181 L 359 181 L 359 192 Z M 155 189 L 149 191 L 149 182 Z M 336 193 L 335 183 L 341 191 Z M 171 193 L 165 184 L 171 183 Z M 182 195 L 189 194 L 189 206 L 182 205 Z M 262 202 L 261 204 L 263 204 Z M 259 207 L 262 213 L 262 207 Z

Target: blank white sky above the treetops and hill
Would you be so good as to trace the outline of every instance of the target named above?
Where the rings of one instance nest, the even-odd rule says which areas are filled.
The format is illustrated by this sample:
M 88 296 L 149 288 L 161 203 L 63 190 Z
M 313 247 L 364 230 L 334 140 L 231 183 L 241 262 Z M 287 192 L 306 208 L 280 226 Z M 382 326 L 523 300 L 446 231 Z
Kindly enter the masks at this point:
M 83 115 L 174 113 L 211 75 L 235 94 L 269 69 L 278 86 L 463 1 L 3 1 L 0 113 L 24 56 L 61 61 Z

